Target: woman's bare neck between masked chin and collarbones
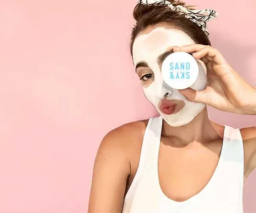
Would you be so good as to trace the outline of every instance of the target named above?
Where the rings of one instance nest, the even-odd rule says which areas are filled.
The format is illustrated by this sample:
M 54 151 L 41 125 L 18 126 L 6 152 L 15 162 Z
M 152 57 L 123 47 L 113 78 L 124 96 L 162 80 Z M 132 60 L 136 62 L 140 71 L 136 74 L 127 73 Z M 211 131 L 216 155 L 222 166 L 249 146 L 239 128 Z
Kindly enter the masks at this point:
M 163 120 L 162 136 L 188 145 L 193 141 L 207 143 L 216 139 L 221 139 L 220 125 L 215 124 L 208 117 L 205 107 L 189 124 L 172 127 Z M 217 130 L 218 129 L 218 130 Z

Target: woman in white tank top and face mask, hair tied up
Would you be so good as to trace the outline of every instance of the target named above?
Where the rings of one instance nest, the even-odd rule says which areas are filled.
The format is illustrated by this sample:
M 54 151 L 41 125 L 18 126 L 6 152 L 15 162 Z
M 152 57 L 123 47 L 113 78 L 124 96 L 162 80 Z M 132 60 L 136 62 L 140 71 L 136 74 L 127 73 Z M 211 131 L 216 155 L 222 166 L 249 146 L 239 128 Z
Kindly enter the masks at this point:
M 241 213 L 243 185 L 256 167 L 256 129 L 216 124 L 205 106 L 256 115 L 256 88 L 211 47 L 206 22 L 218 14 L 182 2 L 149 2 L 134 9 L 131 54 L 160 116 L 104 137 L 88 212 Z M 201 60 L 198 79 L 184 90 L 164 84 L 160 69 L 179 51 Z

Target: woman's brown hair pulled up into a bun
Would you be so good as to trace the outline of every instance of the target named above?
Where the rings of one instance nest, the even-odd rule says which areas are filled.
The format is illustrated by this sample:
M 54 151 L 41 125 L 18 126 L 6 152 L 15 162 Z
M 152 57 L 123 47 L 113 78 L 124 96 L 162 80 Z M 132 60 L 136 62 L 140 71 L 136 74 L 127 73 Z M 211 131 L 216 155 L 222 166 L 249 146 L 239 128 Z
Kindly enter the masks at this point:
M 169 0 L 174 6 L 181 5 L 188 9 L 193 9 L 193 6 L 185 5 L 184 2 Z M 180 29 L 184 33 L 188 34 L 196 44 L 210 45 L 211 42 L 201 27 L 196 25 L 190 19 L 185 18 L 177 12 L 172 11 L 166 6 L 154 6 L 137 4 L 133 11 L 133 17 L 136 20 L 136 25 L 132 29 L 132 36 L 130 42 L 131 55 L 132 47 L 136 36 L 143 31 L 146 27 L 163 23 L 170 25 L 176 29 Z

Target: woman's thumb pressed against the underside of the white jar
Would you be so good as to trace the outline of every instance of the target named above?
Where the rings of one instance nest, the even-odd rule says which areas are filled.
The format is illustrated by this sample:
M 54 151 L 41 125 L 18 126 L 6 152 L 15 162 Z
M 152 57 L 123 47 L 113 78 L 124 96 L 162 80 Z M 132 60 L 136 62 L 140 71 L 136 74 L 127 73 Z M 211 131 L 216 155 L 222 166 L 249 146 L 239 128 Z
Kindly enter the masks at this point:
M 203 91 L 197 91 L 192 88 L 186 88 L 179 89 L 179 93 L 184 95 L 186 99 L 188 99 L 190 102 L 207 104 Z

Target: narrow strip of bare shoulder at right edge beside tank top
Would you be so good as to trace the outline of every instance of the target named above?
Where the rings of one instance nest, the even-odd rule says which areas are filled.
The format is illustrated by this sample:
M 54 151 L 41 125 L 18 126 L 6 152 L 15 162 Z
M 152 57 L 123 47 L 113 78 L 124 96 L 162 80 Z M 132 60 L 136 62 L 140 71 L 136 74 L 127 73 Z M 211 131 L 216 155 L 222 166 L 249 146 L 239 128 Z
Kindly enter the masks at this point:
M 256 167 L 256 127 L 240 129 L 244 147 L 244 169 L 248 173 Z

